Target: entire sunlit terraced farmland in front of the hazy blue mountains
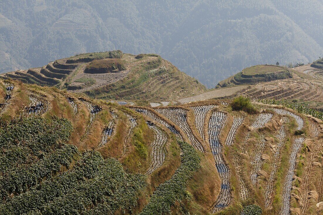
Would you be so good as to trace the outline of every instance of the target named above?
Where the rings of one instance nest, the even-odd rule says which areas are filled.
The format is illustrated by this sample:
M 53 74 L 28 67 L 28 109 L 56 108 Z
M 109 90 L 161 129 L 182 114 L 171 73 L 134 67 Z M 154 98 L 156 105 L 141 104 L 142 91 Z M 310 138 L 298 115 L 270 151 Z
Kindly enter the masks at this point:
M 323 60 L 207 89 L 154 54 L 0 77 L 0 214 L 323 214 Z

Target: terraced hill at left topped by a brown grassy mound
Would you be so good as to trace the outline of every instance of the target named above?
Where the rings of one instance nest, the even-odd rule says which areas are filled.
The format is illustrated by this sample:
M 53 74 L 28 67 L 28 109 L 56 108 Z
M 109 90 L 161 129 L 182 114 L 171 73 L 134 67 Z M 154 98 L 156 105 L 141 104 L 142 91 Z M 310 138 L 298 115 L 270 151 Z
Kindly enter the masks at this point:
M 117 61 L 119 66 L 116 66 Z M 9 72 L 2 77 L 55 86 L 93 98 L 128 102 L 175 100 L 206 90 L 160 56 L 141 54 L 136 57 L 121 51 L 80 54 L 41 68 Z

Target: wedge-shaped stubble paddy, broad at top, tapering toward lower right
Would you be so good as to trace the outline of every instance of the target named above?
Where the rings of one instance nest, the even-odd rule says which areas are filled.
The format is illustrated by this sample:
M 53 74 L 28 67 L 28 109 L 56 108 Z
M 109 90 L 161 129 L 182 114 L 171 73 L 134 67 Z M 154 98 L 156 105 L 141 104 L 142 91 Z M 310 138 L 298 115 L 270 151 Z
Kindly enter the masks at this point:
M 200 141 L 193 134 L 188 122 L 187 112 L 188 110 L 183 108 L 158 108 L 156 112 L 163 115 L 165 118 L 172 121 L 175 125 L 180 127 L 182 131 L 188 136 L 193 147 L 201 152 L 204 152 L 203 146 Z

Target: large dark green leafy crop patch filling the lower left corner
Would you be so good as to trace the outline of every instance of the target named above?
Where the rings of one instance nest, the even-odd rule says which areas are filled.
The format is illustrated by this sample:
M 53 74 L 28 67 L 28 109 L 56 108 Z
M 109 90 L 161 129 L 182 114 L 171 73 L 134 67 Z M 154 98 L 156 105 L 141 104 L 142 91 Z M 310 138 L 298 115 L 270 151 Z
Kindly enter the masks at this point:
M 131 211 L 146 186 L 116 159 L 68 145 L 66 119 L 0 124 L 0 214 L 114 214 Z

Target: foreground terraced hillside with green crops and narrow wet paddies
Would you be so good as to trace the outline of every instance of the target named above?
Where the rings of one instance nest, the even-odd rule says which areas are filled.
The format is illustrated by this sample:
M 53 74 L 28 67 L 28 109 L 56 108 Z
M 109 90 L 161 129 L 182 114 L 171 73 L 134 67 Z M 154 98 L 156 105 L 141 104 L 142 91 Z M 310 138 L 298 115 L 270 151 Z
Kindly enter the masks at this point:
M 311 115 L 247 100 L 250 114 L 232 108 L 239 99 L 152 108 L 0 85 L 0 214 L 323 211 L 323 122 Z

